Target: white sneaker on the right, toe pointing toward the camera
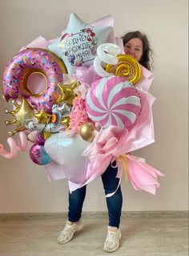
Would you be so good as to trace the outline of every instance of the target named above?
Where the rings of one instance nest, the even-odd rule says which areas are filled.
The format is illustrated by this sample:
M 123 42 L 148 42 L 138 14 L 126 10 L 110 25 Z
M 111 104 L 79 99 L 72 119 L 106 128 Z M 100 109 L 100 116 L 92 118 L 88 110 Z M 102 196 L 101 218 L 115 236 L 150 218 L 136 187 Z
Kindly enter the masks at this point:
M 111 253 L 119 248 L 119 240 L 122 238 L 121 231 L 113 226 L 107 228 L 107 239 L 104 242 L 103 250 Z

